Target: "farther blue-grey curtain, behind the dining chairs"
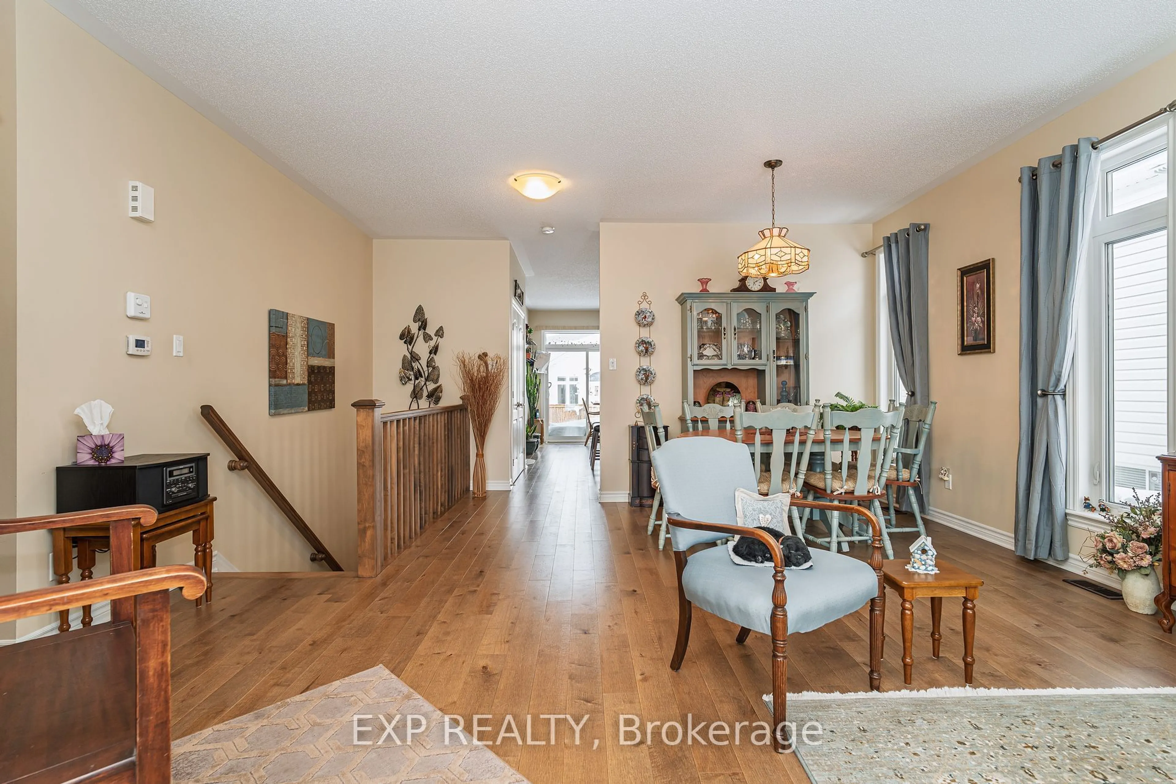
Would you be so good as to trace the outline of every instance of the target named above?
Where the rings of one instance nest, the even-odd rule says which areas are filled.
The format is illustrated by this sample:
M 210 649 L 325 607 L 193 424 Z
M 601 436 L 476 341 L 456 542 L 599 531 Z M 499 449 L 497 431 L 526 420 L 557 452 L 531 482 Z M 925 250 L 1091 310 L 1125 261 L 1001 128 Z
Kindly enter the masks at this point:
M 931 227 L 911 223 L 909 228 L 882 237 L 886 254 L 887 309 L 890 321 L 890 346 L 894 347 L 898 378 L 907 389 L 907 400 L 898 403 L 927 406 L 931 401 L 929 378 L 929 349 L 927 330 L 927 263 Z M 880 401 L 881 402 L 881 401 Z M 929 448 L 930 442 L 928 441 Z M 927 487 L 928 467 L 931 461 L 924 448 L 924 460 L 920 467 L 922 487 Z M 916 489 L 922 501 L 923 494 Z M 903 498 L 903 508 L 910 504 Z M 927 509 L 927 504 L 922 504 Z

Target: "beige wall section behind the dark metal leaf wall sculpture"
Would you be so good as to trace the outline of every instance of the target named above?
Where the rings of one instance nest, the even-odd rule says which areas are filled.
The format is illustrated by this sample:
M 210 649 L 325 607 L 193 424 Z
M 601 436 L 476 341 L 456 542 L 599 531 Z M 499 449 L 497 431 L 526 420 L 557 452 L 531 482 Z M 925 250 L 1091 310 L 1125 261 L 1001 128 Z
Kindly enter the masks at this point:
M 372 263 L 375 396 L 386 411 L 408 408 L 408 387 L 397 380 L 403 344 L 397 336 L 425 306 L 429 327 L 445 327 L 437 364 L 442 406 L 459 403 L 457 351 L 508 355 L 512 249 L 506 240 L 375 240 Z M 517 262 L 514 262 L 517 263 Z M 439 270 L 447 270 L 441 274 Z M 521 274 L 521 273 L 520 273 Z M 522 283 L 520 279 L 520 283 Z M 486 441 L 486 473 L 492 488 L 509 482 L 510 404 L 503 390 Z

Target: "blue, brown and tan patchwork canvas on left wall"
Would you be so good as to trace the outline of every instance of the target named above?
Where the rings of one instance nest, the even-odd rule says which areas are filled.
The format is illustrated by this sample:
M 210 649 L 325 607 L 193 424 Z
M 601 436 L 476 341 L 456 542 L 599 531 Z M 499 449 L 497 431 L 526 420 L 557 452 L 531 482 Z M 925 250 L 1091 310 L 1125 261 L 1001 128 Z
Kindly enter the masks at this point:
M 335 324 L 269 311 L 269 415 L 335 407 Z

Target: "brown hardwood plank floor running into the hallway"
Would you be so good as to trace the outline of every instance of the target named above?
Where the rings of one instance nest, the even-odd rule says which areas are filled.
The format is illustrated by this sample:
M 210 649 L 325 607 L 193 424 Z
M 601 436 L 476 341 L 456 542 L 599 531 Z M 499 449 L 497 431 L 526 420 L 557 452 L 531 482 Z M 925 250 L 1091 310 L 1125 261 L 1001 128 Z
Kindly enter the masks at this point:
M 442 711 L 587 715 L 583 738 L 494 751 L 536 784 L 807 782 L 790 756 L 734 745 L 620 745 L 617 716 L 770 721 L 770 646 L 695 610 L 671 672 L 677 619 L 673 555 L 646 536 L 648 509 L 600 504 L 579 445 L 548 445 L 513 492 L 465 500 L 377 578 L 219 574 L 215 602 L 173 605 L 173 737 L 383 664 Z M 976 686 L 1176 685 L 1176 641 L 1155 618 L 1063 584 L 1073 576 L 931 525 L 941 557 L 983 577 Z M 896 554 L 911 535 L 896 537 Z M 887 596 L 882 688 L 902 689 L 897 601 Z M 944 603 L 940 659 L 930 609 L 915 607 L 910 688 L 963 684 L 958 603 Z M 789 691 L 862 691 L 864 610 L 789 638 Z

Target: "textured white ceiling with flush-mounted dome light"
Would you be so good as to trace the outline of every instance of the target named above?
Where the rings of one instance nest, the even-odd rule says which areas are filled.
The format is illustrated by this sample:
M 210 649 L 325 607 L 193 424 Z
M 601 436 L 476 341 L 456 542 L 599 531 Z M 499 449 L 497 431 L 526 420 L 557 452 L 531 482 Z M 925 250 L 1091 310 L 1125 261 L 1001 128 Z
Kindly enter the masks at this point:
M 601 220 L 766 223 L 767 158 L 780 222 L 873 220 L 1176 36 L 1171 0 L 51 1 L 375 236 L 509 239 L 541 308 L 597 306 Z

